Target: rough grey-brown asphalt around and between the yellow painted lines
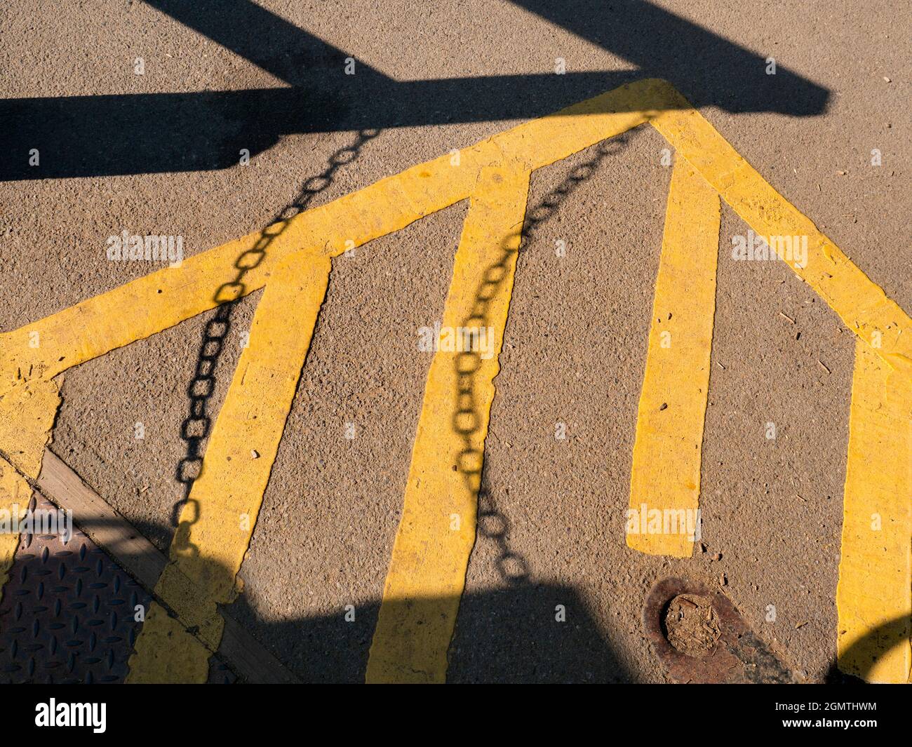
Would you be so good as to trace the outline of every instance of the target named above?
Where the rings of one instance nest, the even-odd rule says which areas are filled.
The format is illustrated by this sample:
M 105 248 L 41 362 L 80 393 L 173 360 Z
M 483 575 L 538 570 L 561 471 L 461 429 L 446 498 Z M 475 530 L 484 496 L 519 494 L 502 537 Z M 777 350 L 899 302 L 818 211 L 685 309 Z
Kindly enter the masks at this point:
M 222 14 L 236 32 L 234 46 L 246 45 L 261 67 L 142 2 L 5 7 L 3 100 L 195 91 L 239 98 L 156 99 L 162 109 L 121 109 L 119 131 L 135 127 L 133 150 L 150 149 L 148 158 L 137 156 L 140 171 L 119 172 L 116 159 L 97 152 L 85 163 L 73 157 L 67 178 L 5 182 L 0 329 L 158 269 L 106 261 L 111 234 L 181 234 L 189 256 L 262 228 L 355 140 L 357 127 L 382 130 L 315 204 L 646 75 L 670 79 L 888 296 L 912 309 L 912 19 L 902 5 L 581 0 L 559 13 L 533 0 L 258 5 L 344 50 L 341 57 L 356 57 L 365 76 L 369 66 L 400 82 L 469 80 L 416 88 L 407 106 L 408 97 L 337 75 L 341 57 L 288 26 L 246 24 L 242 33 L 231 9 L 200 4 L 194 12 Z M 678 20 L 655 16 L 655 8 Z M 682 33 L 679 24 L 714 36 Z M 748 50 L 749 61 L 731 45 Z M 565 78 L 554 76 L 557 57 L 565 59 Z M 766 57 L 780 66 L 775 80 L 763 72 Z M 783 70 L 822 91 L 821 106 L 814 109 L 803 86 L 784 103 L 765 105 L 776 86 L 791 90 Z M 604 72 L 572 75 L 584 71 Z M 503 76 L 517 78 L 507 88 L 477 81 Z M 288 85 L 304 99 L 285 109 L 249 94 Z M 98 101 L 89 113 L 92 107 L 108 110 Z M 305 115 L 307 128 L 285 127 Z M 414 120 L 419 115 L 423 121 Z M 114 138 L 103 122 L 99 132 L 100 142 Z M 245 139 L 255 142 L 245 146 Z M 244 147 L 253 157 L 241 167 Z M 703 446 L 706 551 L 698 545 L 693 558 L 670 561 L 624 543 L 670 177 L 660 164 L 665 147 L 653 130 L 629 133 L 520 257 L 486 478 L 528 576 L 507 583 L 496 545 L 479 537 L 451 680 L 663 681 L 640 609 L 648 588 L 672 574 L 710 584 L 724 574 L 751 627 L 808 680 L 822 680 L 832 664 L 854 340 L 782 264 L 731 261 L 731 236 L 747 226 L 724 206 Z M 872 149 L 881 151 L 882 166 L 871 165 Z M 593 152 L 536 172 L 530 208 Z M 55 153 L 42 158 L 53 168 Z M 455 205 L 334 262 L 242 567 L 244 595 L 230 610 L 302 679 L 363 679 L 430 364 L 417 350 L 417 329 L 440 318 L 464 214 L 465 205 Z M 554 254 L 557 239 L 566 242 L 565 257 Z M 235 312 L 212 414 L 259 295 Z M 161 548 L 181 497 L 174 474 L 184 452 L 185 389 L 206 318 L 70 371 L 62 390 L 52 448 Z M 346 438 L 347 422 L 354 439 Z M 558 422 L 566 424 L 565 440 L 554 438 Z M 765 436 L 768 422 L 775 440 Z M 356 607 L 355 623 L 344 620 L 347 605 Z M 563 626 L 554 622 L 556 605 L 567 608 Z

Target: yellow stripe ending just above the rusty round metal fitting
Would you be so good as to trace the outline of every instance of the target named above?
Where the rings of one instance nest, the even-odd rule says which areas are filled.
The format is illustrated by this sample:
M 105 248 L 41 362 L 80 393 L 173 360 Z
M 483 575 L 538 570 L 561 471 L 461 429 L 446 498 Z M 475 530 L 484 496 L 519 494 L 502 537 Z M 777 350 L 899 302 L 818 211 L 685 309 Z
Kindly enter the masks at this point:
M 688 161 L 676 161 L 639 397 L 627 513 L 627 545 L 651 555 L 689 557 L 699 526 L 719 226 L 719 194 Z

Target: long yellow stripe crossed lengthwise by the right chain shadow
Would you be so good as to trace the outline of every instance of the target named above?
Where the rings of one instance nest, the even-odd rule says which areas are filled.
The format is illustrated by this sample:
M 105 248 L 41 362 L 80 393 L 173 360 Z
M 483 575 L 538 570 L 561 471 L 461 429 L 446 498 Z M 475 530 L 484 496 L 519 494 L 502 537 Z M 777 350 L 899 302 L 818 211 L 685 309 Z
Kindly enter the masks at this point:
M 472 193 L 441 326 L 490 328 L 491 347 L 450 351 L 441 335 L 430 364 L 368 682 L 446 679 L 528 188 L 529 171 L 508 164 L 482 169 Z

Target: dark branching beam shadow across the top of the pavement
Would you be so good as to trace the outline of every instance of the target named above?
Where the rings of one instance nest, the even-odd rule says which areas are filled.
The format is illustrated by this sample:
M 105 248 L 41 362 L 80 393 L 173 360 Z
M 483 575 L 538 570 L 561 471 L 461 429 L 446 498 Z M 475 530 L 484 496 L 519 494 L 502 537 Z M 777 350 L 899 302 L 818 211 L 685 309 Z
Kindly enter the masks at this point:
M 646 74 L 697 107 L 738 113 L 814 116 L 829 99 L 781 65 L 767 75 L 764 57 L 646 0 L 513 0 L 635 69 L 575 71 L 571 58 L 565 75 L 409 81 L 361 61 L 346 75 L 345 51 L 251 0 L 146 2 L 291 88 L 0 99 L 0 181 L 212 171 L 293 133 L 533 119 Z

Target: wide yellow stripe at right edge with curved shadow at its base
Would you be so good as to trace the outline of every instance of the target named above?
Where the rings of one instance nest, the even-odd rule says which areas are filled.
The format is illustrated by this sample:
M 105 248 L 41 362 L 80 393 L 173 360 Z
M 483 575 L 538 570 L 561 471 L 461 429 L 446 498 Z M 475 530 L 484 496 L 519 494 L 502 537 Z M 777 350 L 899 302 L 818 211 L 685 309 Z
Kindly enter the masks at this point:
M 912 389 L 860 340 L 849 415 L 838 664 L 869 682 L 912 667 Z

